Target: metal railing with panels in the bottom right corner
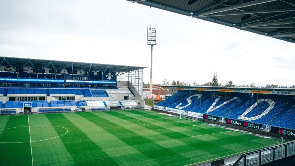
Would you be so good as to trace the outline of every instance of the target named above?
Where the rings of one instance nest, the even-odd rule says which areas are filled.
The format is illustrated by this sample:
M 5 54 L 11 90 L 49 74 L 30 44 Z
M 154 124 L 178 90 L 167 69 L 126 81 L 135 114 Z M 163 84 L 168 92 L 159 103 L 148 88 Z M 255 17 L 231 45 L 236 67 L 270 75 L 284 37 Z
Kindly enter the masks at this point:
M 242 154 L 232 166 L 256 166 L 295 155 L 295 141 Z

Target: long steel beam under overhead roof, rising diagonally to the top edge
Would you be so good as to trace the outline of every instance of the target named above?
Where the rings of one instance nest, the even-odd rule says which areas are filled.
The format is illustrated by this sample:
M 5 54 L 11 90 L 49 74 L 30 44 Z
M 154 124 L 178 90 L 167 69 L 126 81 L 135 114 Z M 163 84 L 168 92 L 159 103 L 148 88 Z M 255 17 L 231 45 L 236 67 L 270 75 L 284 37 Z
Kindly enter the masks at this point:
M 263 3 L 272 2 L 272 1 L 277 1 L 277 0 L 257 0 L 257 1 L 252 1 L 252 2 L 246 2 L 246 3 L 240 4 L 240 5 L 234 5 L 231 7 L 226 7 L 226 8 L 222 8 L 222 9 L 212 10 L 209 12 L 199 13 L 199 14 L 197 14 L 197 17 L 201 17 L 201 16 L 205 16 L 205 15 L 209 15 L 209 14 L 214 14 L 214 13 L 219 13 L 219 12 L 225 12 L 225 11 L 229 11 L 232 9 L 238 9 L 238 8 L 247 7 L 247 6 L 263 4 Z

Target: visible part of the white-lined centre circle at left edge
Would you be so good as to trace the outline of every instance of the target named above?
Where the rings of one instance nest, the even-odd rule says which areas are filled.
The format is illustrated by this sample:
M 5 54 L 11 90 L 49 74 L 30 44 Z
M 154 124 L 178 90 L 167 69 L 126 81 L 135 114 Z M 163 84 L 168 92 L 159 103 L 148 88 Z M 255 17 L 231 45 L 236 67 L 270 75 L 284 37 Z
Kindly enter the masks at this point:
M 61 126 L 20 126 L 5 128 L 0 130 L 0 144 L 1 143 L 27 143 L 48 141 L 56 139 L 68 133 L 68 129 Z

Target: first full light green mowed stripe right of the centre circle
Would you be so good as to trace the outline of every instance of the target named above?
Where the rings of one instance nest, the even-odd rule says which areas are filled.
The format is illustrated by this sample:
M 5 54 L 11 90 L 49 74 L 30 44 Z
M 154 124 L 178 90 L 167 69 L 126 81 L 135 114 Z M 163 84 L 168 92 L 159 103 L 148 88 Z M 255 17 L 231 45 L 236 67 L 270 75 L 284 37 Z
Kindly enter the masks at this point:
M 82 116 L 79 116 L 81 114 L 84 113 L 64 114 L 64 116 L 74 125 L 76 125 L 81 131 L 83 131 L 84 134 L 86 134 L 93 142 L 95 142 L 104 152 L 106 152 L 120 165 L 159 165 L 159 163 L 153 161 L 119 138 L 105 131 L 100 126 L 97 126 Z

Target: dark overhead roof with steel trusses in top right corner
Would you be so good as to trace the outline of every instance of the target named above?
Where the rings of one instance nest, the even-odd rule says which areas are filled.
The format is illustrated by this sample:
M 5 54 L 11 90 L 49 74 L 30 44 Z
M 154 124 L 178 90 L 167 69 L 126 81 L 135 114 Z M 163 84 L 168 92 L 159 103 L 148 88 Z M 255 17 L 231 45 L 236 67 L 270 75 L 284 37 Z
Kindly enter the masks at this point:
M 128 0 L 295 43 L 294 0 Z

